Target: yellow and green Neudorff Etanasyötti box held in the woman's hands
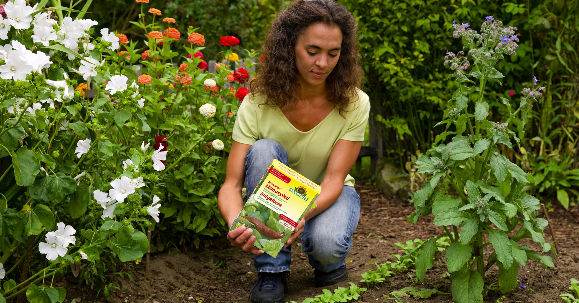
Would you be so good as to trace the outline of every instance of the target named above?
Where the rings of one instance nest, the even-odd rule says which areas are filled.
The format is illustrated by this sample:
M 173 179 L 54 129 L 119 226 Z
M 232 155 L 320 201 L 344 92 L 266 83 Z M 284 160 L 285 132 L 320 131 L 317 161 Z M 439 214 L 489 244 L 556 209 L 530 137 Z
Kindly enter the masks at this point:
M 253 229 L 254 246 L 275 258 L 320 192 L 320 185 L 274 159 L 230 230 Z

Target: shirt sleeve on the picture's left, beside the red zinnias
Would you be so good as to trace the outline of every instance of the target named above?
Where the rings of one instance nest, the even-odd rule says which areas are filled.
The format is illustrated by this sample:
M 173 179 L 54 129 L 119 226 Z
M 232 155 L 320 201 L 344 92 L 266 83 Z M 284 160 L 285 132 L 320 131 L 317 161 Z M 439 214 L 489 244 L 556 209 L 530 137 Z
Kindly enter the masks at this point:
M 254 144 L 258 140 L 258 119 L 255 111 L 256 104 L 252 104 L 247 95 L 237 110 L 237 117 L 233 125 L 233 140 L 243 144 Z

